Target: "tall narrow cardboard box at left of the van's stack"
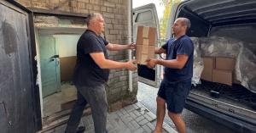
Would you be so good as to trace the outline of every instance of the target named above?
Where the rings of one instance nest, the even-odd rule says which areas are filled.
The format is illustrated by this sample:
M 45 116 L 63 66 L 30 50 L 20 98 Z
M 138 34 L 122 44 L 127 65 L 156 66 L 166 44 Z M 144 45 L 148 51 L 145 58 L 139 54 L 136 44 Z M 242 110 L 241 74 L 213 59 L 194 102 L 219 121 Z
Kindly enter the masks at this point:
M 204 62 L 204 69 L 201 73 L 201 79 L 212 81 L 212 69 L 214 69 L 214 66 L 215 66 L 215 58 L 204 57 L 203 62 Z

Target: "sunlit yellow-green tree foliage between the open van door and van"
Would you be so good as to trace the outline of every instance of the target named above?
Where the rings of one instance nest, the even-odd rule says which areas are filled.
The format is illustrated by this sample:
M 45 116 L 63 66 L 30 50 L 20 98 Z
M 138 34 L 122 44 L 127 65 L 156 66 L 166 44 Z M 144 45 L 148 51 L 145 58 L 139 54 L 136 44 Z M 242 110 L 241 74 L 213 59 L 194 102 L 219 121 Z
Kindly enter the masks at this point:
M 160 19 L 160 36 L 162 39 L 166 37 L 166 30 L 168 24 L 168 19 L 171 14 L 172 5 L 174 3 L 179 3 L 181 0 L 160 0 L 160 4 L 164 5 L 164 14 L 163 17 Z

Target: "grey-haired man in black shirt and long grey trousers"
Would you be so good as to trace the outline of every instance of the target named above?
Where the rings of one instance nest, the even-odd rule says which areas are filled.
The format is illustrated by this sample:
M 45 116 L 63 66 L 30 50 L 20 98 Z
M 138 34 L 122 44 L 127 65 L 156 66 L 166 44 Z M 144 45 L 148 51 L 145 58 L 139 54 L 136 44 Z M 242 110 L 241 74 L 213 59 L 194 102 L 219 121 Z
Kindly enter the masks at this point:
M 102 14 L 90 14 L 87 27 L 77 45 L 77 64 L 73 83 L 78 89 L 78 99 L 68 119 L 66 133 L 77 131 L 87 103 L 91 107 L 95 132 L 106 133 L 108 103 L 104 84 L 108 81 L 109 69 L 137 69 L 133 64 L 135 60 L 123 63 L 108 59 L 107 49 L 133 49 L 135 45 L 112 44 L 104 40 L 101 36 L 104 31 Z

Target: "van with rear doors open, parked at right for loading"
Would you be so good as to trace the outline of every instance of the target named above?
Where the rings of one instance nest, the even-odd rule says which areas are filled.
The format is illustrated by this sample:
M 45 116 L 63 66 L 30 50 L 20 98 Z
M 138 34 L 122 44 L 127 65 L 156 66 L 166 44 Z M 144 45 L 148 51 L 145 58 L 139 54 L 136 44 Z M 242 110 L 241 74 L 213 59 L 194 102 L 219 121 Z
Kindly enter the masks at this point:
M 156 16 L 154 4 L 135 8 L 133 10 L 133 38 L 136 38 L 137 25 L 154 26 L 159 30 L 159 21 Z M 172 36 L 171 25 L 178 17 L 190 19 L 191 28 L 188 35 L 191 37 L 205 39 L 212 36 L 227 37 L 256 45 L 255 0 L 188 0 L 176 4 L 170 15 L 167 39 Z M 159 31 L 157 37 L 156 47 L 160 47 Z M 218 37 L 216 38 L 218 39 Z M 251 50 L 252 58 L 255 58 L 255 46 L 251 45 Z M 255 64 L 256 60 L 252 60 L 252 58 L 247 58 L 247 60 Z M 247 67 L 241 69 L 247 69 Z M 251 85 L 250 87 L 255 87 L 256 75 L 253 71 L 248 73 L 254 77 L 249 80 L 248 84 Z M 160 74 L 159 66 L 155 69 L 148 69 L 143 65 L 138 67 L 139 80 L 154 87 L 160 85 Z M 202 84 L 192 87 L 185 108 L 233 130 L 247 133 L 256 132 L 255 90 L 252 91 L 239 84 L 223 86 L 204 80 L 201 82 Z

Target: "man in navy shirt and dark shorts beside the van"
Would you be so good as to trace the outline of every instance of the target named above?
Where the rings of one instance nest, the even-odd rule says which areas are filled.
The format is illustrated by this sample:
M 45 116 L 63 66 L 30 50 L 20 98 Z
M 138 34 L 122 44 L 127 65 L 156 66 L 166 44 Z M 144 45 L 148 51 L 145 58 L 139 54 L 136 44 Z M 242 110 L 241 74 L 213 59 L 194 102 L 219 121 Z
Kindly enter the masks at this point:
M 148 59 L 148 67 L 154 68 L 156 64 L 165 67 L 164 80 L 160 84 L 157 102 L 157 124 L 154 133 L 162 133 L 163 120 L 166 114 L 172 119 L 179 133 L 186 132 L 186 126 L 181 117 L 186 97 L 191 87 L 193 76 L 194 44 L 186 31 L 189 30 L 190 21 L 178 18 L 172 25 L 174 38 L 165 45 L 155 48 L 155 54 L 166 53 L 166 59 Z

